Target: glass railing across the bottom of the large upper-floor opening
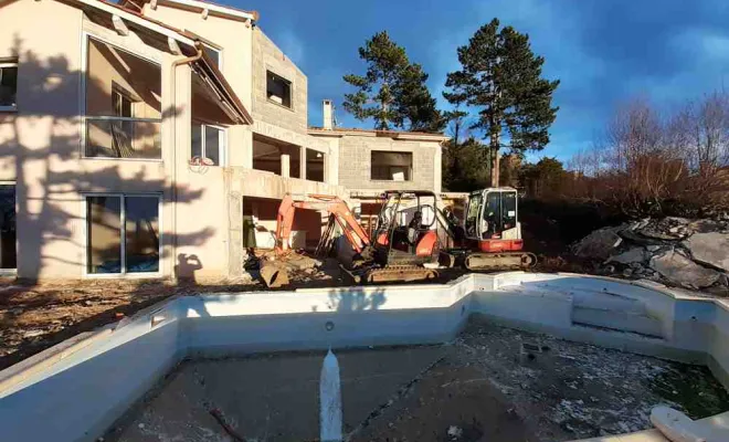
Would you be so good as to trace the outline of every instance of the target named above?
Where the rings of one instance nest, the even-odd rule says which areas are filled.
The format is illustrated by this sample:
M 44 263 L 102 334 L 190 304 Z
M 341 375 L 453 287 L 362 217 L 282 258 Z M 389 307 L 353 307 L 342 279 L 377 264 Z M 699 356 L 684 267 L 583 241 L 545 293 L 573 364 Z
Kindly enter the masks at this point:
M 86 117 L 84 156 L 161 159 L 161 119 Z

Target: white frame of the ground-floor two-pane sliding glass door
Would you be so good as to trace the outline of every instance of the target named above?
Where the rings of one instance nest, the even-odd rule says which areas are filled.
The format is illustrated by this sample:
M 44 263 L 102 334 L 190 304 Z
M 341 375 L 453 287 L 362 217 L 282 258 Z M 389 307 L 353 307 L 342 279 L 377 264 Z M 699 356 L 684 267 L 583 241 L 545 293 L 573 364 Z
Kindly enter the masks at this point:
M 122 225 L 122 229 L 119 229 L 119 241 L 120 241 L 120 253 L 119 253 L 119 259 L 120 259 L 120 269 L 122 272 L 119 273 L 89 273 L 88 272 L 88 234 L 89 234 L 89 229 L 88 229 L 88 198 L 94 198 L 94 197 L 116 197 L 119 198 L 120 201 L 120 211 L 119 211 L 119 224 Z M 129 280 L 145 280 L 145 278 L 158 278 L 163 276 L 163 271 L 162 271 L 162 249 L 165 244 L 165 230 L 162 229 L 162 207 L 163 207 L 163 201 L 162 201 L 162 193 L 161 192 L 148 192 L 148 193 L 123 193 L 123 192 L 88 192 L 88 193 L 81 193 L 82 200 L 82 213 L 83 215 L 81 217 L 84 222 L 84 262 L 83 262 L 83 271 L 82 275 L 84 278 L 101 278 L 101 280 L 118 280 L 118 278 L 129 278 Z M 129 273 L 127 271 L 127 263 L 126 263 L 126 248 L 127 248 L 127 229 L 126 229 L 126 198 L 157 198 L 157 223 L 158 223 L 158 229 L 159 232 L 158 238 L 159 238 L 159 250 L 157 251 L 157 254 L 159 256 L 159 265 L 157 266 L 157 272 L 134 272 Z

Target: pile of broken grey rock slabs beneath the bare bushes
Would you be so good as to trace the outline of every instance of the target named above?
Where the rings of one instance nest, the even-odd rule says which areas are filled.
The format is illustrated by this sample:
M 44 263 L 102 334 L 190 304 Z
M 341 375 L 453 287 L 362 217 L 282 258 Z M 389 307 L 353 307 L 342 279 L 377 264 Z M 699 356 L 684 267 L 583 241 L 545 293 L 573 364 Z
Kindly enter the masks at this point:
M 729 220 L 644 219 L 590 233 L 572 253 L 598 273 L 729 295 Z

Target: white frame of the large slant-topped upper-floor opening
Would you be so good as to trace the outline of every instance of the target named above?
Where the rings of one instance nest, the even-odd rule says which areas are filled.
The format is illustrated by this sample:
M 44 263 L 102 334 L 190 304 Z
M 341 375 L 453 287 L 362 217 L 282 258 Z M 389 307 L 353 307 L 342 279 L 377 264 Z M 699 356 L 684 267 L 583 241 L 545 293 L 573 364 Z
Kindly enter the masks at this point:
M 160 156 L 159 158 L 117 158 L 117 157 L 89 157 L 86 155 L 86 141 L 87 141 L 87 130 L 88 130 L 88 122 L 87 118 L 89 118 L 88 115 L 86 115 L 86 83 L 87 83 L 87 77 L 88 77 L 88 46 L 91 44 L 91 40 L 96 40 L 97 42 L 102 44 L 108 44 L 109 46 L 114 46 L 119 51 L 126 52 L 130 55 L 134 55 L 140 60 L 144 60 L 148 63 L 155 64 L 159 67 L 160 71 L 160 86 L 162 86 L 163 83 L 163 77 L 162 77 L 162 61 L 156 57 L 152 57 L 151 55 L 147 54 L 140 54 L 138 52 L 134 52 L 134 50 L 128 49 L 120 44 L 119 42 L 114 42 L 107 38 L 104 38 L 102 35 L 98 35 L 94 32 L 89 31 L 83 31 L 82 32 L 82 41 L 81 41 L 81 87 L 78 91 L 78 96 L 80 96 L 80 110 L 81 110 L 81 118 L 80 118 L 80 134 L 81 134 L 81 152 L 80 157 L 83 160 L 91 160 L 91 161 L 142 161 L 142 162 L 165 162 L 165 146 L 163 143 L 160 141 Z M 113 84 L 114 86 L 114 84 Z M 122 91 L 125 91 L 122 88 Z M 160 87 L 160 94 L 163 94 L 163 91 L 161 91 Z M 134 95 L 131 95 L 131 98 L 134 98 Z M 134 105 L 134 103 L 133 103 Z M 134 110 L 133 110 L 134 112 Z M 163 118 L 125 118 L 125 117 L 114 117 L 114 116 L 91 116 L 91 119 L 115 119 L 115 120 L 135 120 L 135 122 L 141 122 L 141 123 L 158 123 L 160 125 L 160 139 L 162 137 L 162 124 L 163 124 Z

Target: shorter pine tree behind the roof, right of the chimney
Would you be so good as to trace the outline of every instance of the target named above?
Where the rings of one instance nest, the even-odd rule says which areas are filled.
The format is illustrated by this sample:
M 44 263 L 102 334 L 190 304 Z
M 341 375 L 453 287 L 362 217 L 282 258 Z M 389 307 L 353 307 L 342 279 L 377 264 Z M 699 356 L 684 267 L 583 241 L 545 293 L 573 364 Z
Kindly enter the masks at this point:
M 440 131 L 445 126 L 425 82 L 427 74 L 420 64 L 411 64 L 404 48 L 390 40 L 387 31 L 378 32 L 359 49 L 367 62 L 364 75 L 345 75 L 357 87 L 345 94 L 344 107 L 355 118 L 372 118 L 374 128 L 388 130 Z

